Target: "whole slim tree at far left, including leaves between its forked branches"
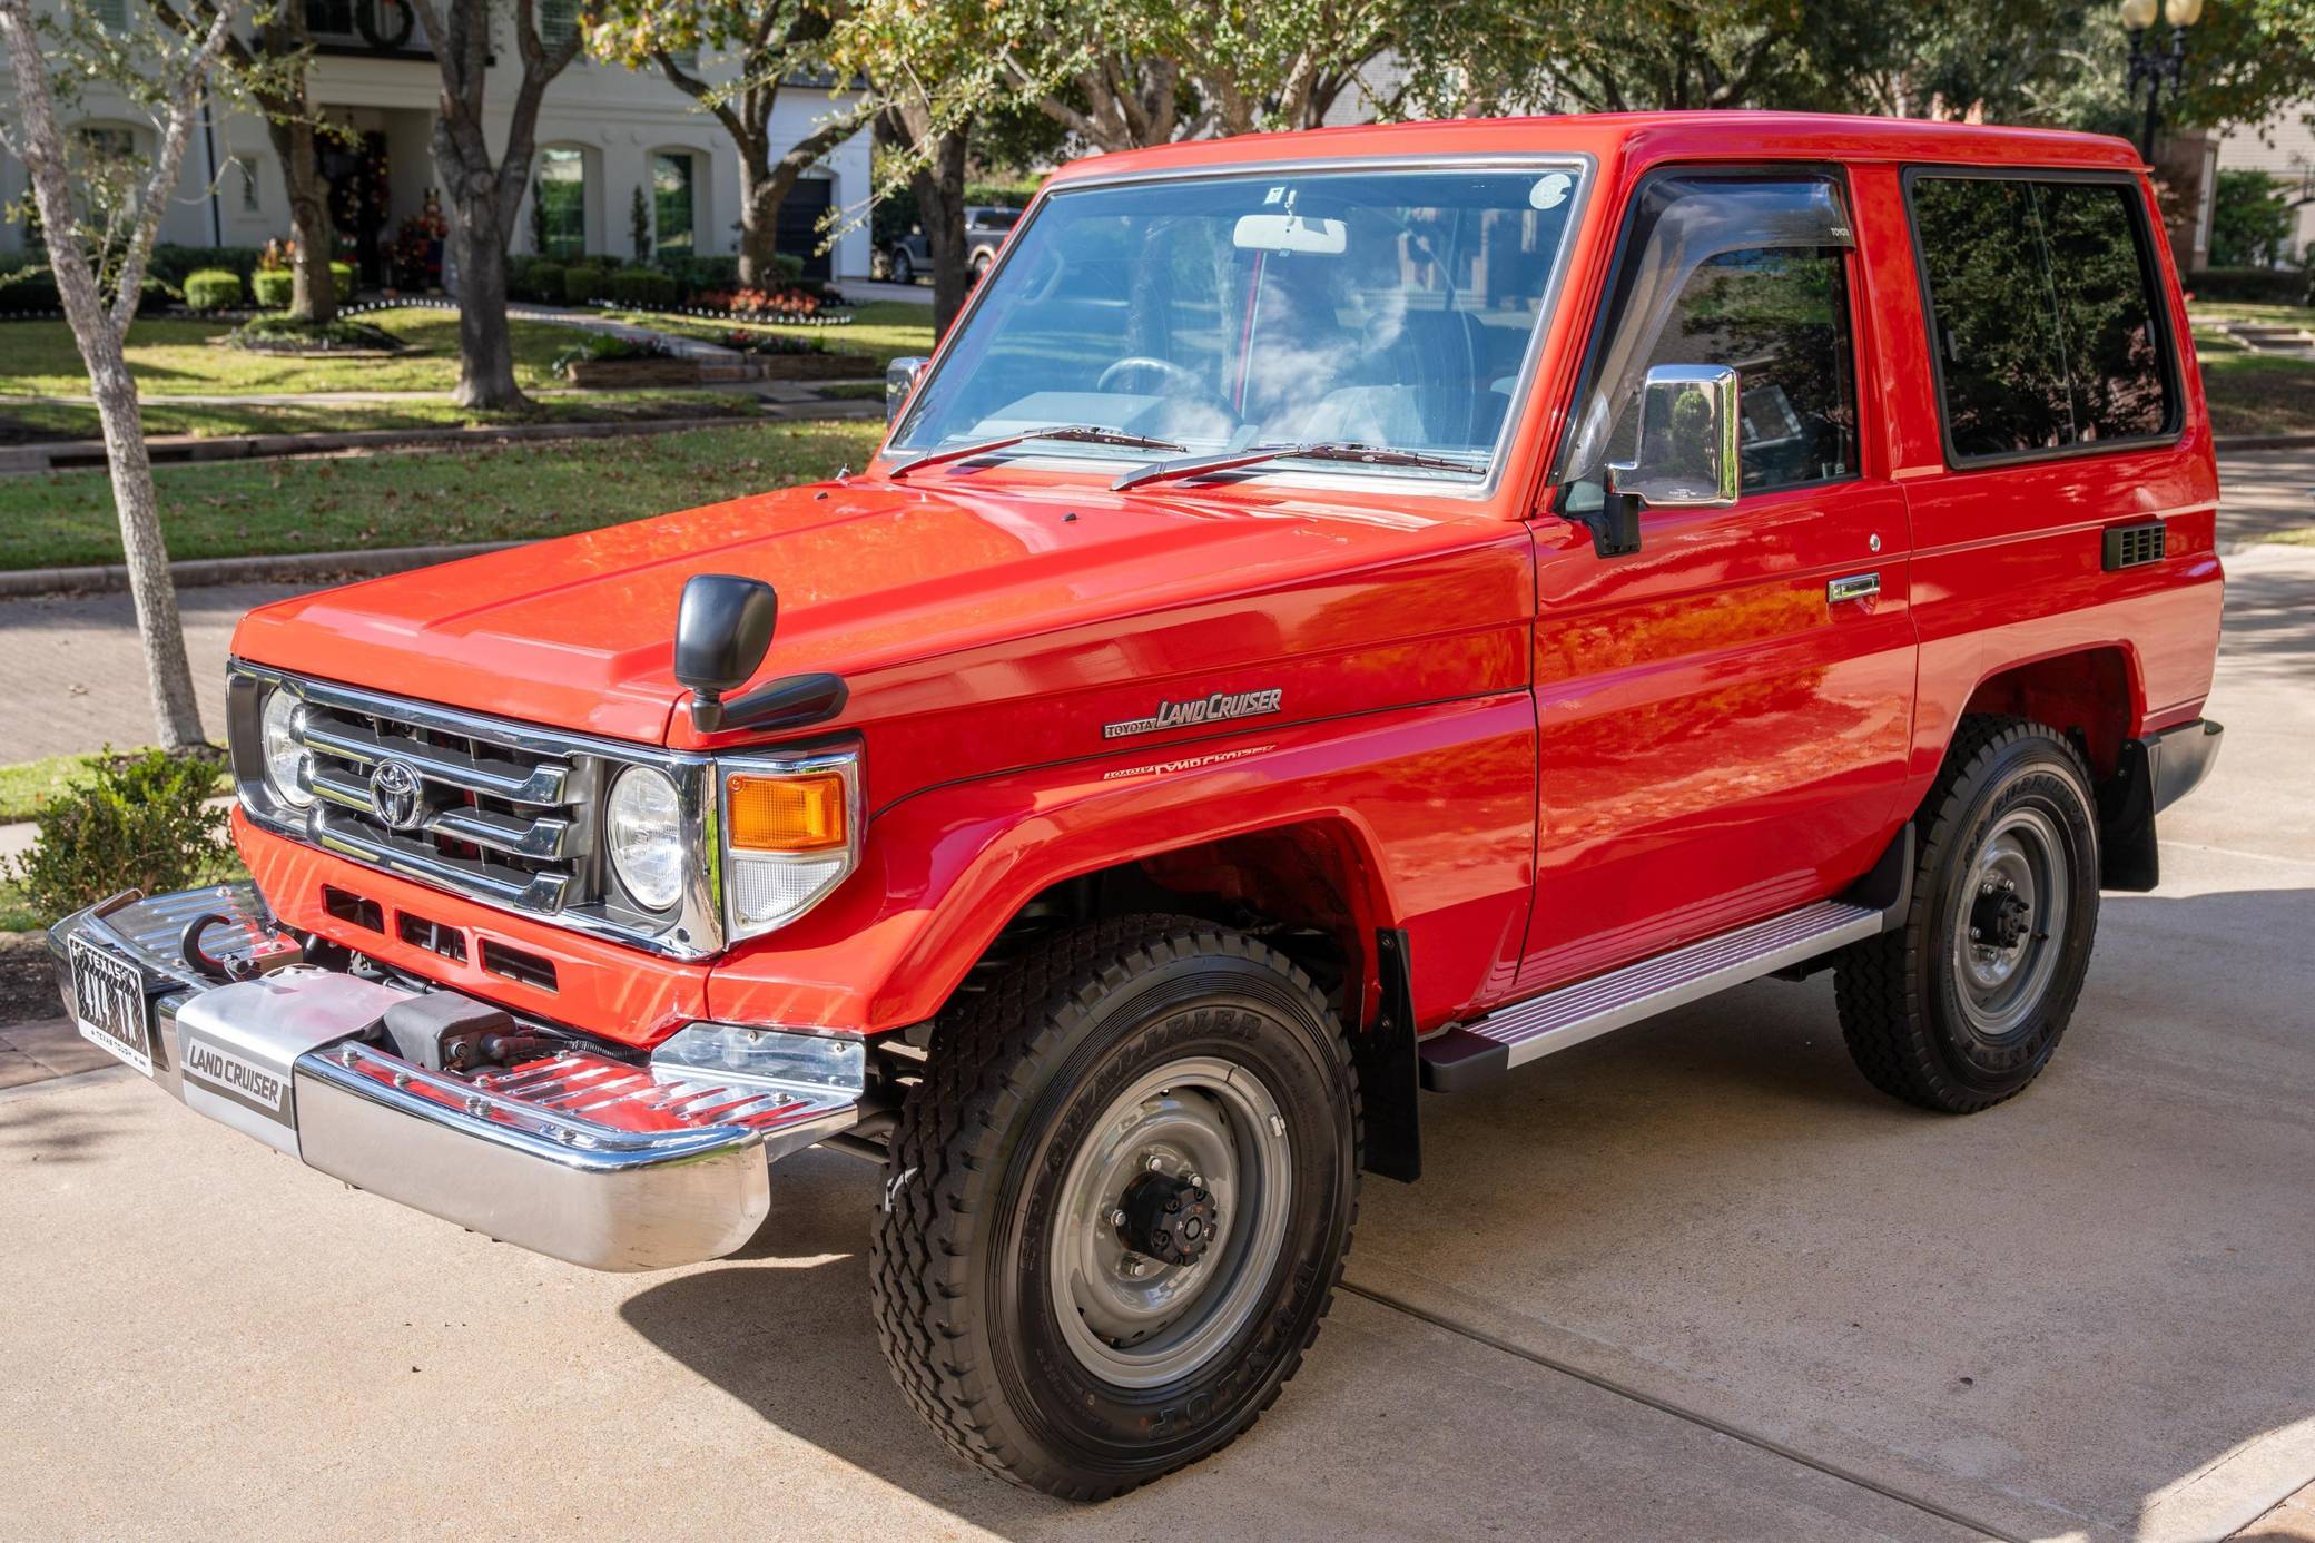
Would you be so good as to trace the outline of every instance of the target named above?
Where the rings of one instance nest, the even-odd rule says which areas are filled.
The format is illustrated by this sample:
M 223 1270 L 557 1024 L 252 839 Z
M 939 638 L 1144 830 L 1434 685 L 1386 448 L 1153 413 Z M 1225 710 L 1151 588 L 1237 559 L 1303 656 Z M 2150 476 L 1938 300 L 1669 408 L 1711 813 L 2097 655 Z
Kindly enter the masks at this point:
M 137 632 L 153 688 L 153 723 L 162 748 L 169 751 L 201 746 L 206 737 L 201 707 L 192 695 L 192 667 L 185 663 L 185 630 L 176 614 L 169 544 L 160 533 L 144 410 L 137 403 L 125 343 L 137 301 L 144 297 L 146 259 L 153 255 L 162 211 L 185 164 L 185 141 L 192 137 L 236 19 L 238 0 L 220 0 L 215 14 L 192 35 L 155 32 L 123 39 L 106 35 L 88 12 L 67 7 L 63 35 L 51 30 L 51 37 L 42 37 L 46 28 L 35 28 L 30 0 L 0 0 L 0 49 L 9 58 L 19 116 L 14 130 L 0 130 L 0 144 L 7 144 L 32 178 L 49 271 L 56 276 L 81 364 L 88 366 L 88 389 L 104 426 L 113 507 L 120 514 Z M 72 90 L 72 81 L 86 76 L 118 86 L 155 127 L 153 158 L 120 174 L 109 188 L 104 178 L 74 174 L 58 127 L 58 97 Z M 100 190 L 95 197 L 93 188 Z M 100 264 L 111 278 L 109 297 L 100 283 Z

